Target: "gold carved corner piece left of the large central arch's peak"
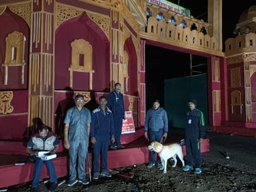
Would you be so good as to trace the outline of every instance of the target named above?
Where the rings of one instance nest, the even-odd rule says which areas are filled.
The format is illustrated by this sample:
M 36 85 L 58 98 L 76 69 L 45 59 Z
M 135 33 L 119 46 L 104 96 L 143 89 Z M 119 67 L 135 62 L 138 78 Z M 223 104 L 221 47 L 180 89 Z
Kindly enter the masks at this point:
M 60 24 L 62 24 L 64 21 L 81 15 L 82 12 L 82 10 L 56 3 L 55 29 L 57 29 L 60 26 Z

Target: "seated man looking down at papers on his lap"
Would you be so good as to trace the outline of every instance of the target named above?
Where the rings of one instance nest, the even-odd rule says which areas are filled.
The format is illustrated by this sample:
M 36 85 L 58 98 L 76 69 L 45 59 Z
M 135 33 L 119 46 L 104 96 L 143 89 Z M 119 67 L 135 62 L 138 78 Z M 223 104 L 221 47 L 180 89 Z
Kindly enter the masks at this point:
M 30 191 L 40 191 L 39 190 L 39 179 L 41 175 L 41 167 L 43 164 L 50 174 L 51 186 L 49 191 L 54 191 L 58 187 L 57 176 L 55 174 L 54 164 L 52 160 L 41 160 L 38 156 L 38 151 L 50 151 L 54 154 L 59 149 L 59 140 L 52 132 L 48 132 L 48 127 L 41 125 L 38 129 L 38 133 L 32 135 L 29 142 L 27 143 L 26 151 L 31 155 L 30 157 L 35 162 L 34 176 L 32 181 L 32 188 Z

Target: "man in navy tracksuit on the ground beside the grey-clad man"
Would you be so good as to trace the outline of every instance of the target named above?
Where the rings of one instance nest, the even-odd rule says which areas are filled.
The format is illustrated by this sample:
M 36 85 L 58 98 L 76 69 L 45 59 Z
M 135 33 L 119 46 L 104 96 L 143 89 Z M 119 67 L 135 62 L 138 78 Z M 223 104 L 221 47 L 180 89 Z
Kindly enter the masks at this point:
M 107 98 L 99 98 L 99 107 L 91 113 L 91 143 L 93 143 L 93 179 L 99 179 L 99 154 L 101 153 L 101 175 L 112 177 L 107 170 L 109 140 L 115 142 L 112 112 L 106 107 Z

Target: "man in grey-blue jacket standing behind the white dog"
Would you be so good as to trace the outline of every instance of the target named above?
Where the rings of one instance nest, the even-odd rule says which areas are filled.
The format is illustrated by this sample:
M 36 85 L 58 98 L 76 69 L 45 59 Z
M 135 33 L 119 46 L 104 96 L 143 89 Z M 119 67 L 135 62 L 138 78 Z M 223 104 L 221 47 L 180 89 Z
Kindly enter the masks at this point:
M 153 107 L 148 110 L 146 113 L 145 118 L 145 125 L 144 125 L 144 132 L 145 137 L 148 138 L 149 132 L 149 139 L 150 141 L 157 141 L 160 142 L 162 137 L 167 137 L 168 133 L 168 118 L 166 111 L 163 108 L 160 108 L 160 102 L 156 99 L 153 102 Z M 152 168 L 155 166 L 155 152 L 150 152 L 150 160 L 148 168 Z M 160 157 L 157 157 L 156 162 L 157 168 L 161 168 L 162 163 Z

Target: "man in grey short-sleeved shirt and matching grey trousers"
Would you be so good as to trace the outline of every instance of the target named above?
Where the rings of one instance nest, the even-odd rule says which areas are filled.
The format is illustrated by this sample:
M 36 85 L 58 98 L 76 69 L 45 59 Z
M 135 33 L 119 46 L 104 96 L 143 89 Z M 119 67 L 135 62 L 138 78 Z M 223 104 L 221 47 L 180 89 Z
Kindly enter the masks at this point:
M 84 107 L 84 96 L 77 94 L 76 106 L 69 108 L 65 118 L 64 147 L 69 149 L 69 182 L 68 186 L 77 183 L 87 185 L 85 177 L 85 157 L 88 151 L 91 114 Z M 76 179 L 76 158 L 78 154 L 78 180 Z

